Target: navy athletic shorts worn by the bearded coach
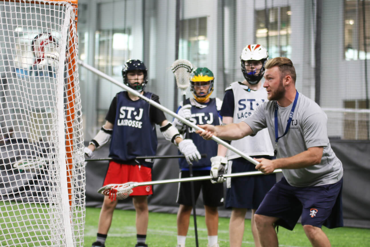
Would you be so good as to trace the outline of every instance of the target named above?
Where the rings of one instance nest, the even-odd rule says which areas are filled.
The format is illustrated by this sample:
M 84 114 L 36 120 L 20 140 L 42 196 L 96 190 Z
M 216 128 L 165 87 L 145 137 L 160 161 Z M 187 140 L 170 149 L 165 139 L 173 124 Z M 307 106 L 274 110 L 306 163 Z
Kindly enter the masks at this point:
M 327 228 L 343 226 L 343 178 L 334 184 L 294 187 L 283 177 L 266 194 L 256 214 L 277 217 L 277 226 L 293 230 L 299 217 L 302 225 Z

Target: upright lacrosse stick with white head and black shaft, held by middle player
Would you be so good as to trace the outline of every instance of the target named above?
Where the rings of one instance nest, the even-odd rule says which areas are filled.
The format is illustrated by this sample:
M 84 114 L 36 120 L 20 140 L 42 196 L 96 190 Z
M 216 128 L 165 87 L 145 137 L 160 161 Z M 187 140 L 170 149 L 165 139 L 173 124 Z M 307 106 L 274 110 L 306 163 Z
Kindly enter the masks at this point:
M 171 70 L 175 74 L 176 84 L 179 89 L 181 89 L 182 94 L 182 106 L 185 106 L 186 101 L 186 89 L 189 87 L 190 74 L 193 69 L 193 65 L 188 60 L 176 60 L 171 65 Z M 186 126 L 186 137 L 189 138 L 189 130 Z M 189 164 L 189 176 L 193 177 L 193 168 Z M 195 195 L 194 195 L 194 183 L 190 182 L 190 194 L 191 202 L 193 205 L 193 217 L 194 217 L 194 231 L 195 231 L 195 240 L 196 246 L 198 246 L 198 230 L 196 226 L 196 212 L 195 212 Z

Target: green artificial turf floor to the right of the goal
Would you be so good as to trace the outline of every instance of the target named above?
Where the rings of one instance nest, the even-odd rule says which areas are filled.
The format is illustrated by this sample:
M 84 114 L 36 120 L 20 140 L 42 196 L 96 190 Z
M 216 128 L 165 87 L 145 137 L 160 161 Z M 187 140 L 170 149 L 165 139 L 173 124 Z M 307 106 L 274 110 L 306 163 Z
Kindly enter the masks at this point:
M 84 246 L 90 247 L 96 240 L 100 208 L 86 208 L 86 225 Z M 207 230 L 204 217 L 197 217 L 199 247 L 206 246 Z M 219 219 L 218 239 L 220 247 L 229 246 L 229 218 Z M 366 247 L 370 246 L 370 229 L 341 227 L 328 229 L 323 227 L 333 247 Z M 176 215 L 164 213 L 149 213 L 147 244 L 149 247 L 176 246 Z M 280 227 L 279 246 L 309 247 L 311 244 L 306 238 L 303 228 L 297 224 L 293 231 Z M 112 226 L 108 233 L 105 246 L 107 247 L 134 247 L 136 243 L 135 211 L 115 210 Z M 186 246 L 195 246 L 194 225 L 191 217 Z M 245 221 L 243 246 L 254 246 L 250 231 L 250 220 Z

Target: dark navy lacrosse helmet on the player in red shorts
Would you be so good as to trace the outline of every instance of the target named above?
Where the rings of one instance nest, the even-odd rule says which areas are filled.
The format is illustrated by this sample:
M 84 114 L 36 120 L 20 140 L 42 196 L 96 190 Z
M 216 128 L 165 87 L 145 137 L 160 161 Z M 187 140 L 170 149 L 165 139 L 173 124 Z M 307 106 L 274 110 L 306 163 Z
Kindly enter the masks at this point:
M 130 84 L 129 80 L 127 79 L 127 73 L 129 71 L 137 71 L 137 70 L 141 70 L 144 73 L 144 80 L 141 84 L 132 85 L 132 84 Z M 126 61 L 126 63 L 124 64 L 124 66 L 122 68 L 122 77 L 123 77 L 123 83 L 126 86 L 129 86 L 132 89 L 134 89 L 134 90 L 136 90 L 140 93 L 144 90 L 145 86 L 147 86 L 147 83 L 148 83 L 148 69 L 147 69 L 147 67 L 145 67 L 145 64 L 142 61 L 137 60 L 137 59 L 130 59 L 130 60 Z

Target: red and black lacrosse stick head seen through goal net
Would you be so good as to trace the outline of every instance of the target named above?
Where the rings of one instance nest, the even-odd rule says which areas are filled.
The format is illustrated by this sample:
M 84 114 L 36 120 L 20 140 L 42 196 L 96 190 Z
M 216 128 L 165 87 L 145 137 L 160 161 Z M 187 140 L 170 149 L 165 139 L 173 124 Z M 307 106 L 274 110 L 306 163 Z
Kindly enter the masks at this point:
M 57 42 L 50 33 L 40 33 L 34 37 L 31 49 L 35 55 L 34 64 L 40 64 L 44 59 L 53 62 L 59 58 Z

